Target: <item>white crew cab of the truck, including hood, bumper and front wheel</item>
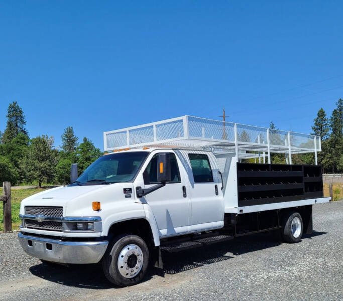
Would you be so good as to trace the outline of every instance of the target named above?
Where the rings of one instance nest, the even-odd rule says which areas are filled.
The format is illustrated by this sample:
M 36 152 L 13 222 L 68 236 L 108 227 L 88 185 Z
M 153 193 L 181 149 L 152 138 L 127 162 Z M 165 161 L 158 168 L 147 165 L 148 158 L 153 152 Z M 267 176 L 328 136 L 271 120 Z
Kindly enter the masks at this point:
M 102 259 L 110 281 L 136 283 L 147 268 L 149 249 L 154 252 L 161 240 L 223 227 L 224 200 L 215 163 L 211 152 L 197 150 L 145 147 L 104 155 L 74 183 L 22 201 L 20 243 L 44 262 Z M 117 254 L 127 260 L 111 275 L 113 243 L 123 240 L 121 250 L 115 249 L 128 250 L 124 257 Z

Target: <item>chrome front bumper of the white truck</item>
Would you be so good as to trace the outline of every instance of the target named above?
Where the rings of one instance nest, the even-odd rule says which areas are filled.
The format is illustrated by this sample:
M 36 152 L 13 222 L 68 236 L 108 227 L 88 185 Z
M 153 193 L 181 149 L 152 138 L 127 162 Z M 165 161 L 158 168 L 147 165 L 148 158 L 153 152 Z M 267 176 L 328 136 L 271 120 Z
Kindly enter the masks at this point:
M 108 241 L 63 241 L 18 234 L 19 242 L 29 255 L 60 263 L 97 263 L 106 251 Z

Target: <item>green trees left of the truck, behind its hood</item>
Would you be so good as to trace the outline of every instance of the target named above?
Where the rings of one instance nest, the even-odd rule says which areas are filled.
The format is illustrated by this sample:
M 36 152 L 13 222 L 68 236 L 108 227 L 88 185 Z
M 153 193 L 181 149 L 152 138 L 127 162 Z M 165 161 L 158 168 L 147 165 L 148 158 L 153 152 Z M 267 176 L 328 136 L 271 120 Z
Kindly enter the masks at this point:
M 72 126 L 64 129 L 62 146 L 58 148 L 52 136 L 30 138 L 23 109 L 17 102 L 10 103 L 6 118 L 6 128 L 0 131 L 0 182 L 67 184 L 71 164 L 77 163 L 82 173 L 102 155 L 87 137 L 79 143 Z

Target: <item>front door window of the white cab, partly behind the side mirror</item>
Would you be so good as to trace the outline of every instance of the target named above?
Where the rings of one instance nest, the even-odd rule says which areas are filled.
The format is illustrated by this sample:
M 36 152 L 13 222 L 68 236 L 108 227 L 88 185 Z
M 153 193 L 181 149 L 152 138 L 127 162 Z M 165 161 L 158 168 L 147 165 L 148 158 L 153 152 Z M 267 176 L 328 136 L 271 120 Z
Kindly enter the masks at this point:
M 177 166 L 175 154 L 170 153 L 170 174 L 171 182 L 168 183 L 181 183 L 180 172 Z M 157 182 L 157 154 L 149 162 L 147 168 L 143 173 L 144 184 L 158 184 Z

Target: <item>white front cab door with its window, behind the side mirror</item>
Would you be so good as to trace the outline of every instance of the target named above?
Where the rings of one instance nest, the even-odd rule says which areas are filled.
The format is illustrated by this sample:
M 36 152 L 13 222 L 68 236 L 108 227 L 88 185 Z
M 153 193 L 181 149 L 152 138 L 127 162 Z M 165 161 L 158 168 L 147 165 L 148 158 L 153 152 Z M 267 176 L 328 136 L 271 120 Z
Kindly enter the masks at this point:
M 164 150 L 161 152 L 166 153 Z M 158 153 L 158 152 L 157 152 Z M 157 153 L 154 153 L 143 172 L 144 186 L 150 188 L 157 182 Z M 174 153 L 171 158 L 171 182 L 145 196 L 151 207 L 161 237 L 189 232 L 190 199 L 186 191 L 185 174 Z

